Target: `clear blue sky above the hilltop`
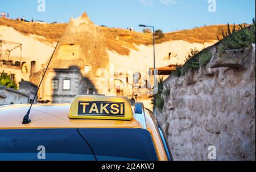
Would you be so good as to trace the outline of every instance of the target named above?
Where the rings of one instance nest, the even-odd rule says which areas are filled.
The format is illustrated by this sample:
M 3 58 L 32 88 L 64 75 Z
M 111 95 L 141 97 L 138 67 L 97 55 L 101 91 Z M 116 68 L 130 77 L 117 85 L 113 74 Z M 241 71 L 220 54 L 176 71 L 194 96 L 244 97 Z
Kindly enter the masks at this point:
M 46 2 L 46 12 L 38 12 L 38 1 Z M 208 1 L 216 1 L 216 12 L 209 12 Z M 98 25 L 142 28 L 154 25 L 164 32 L 211 24 L 251 23 L 255 0 L 0 0 L 0 11 L 10 18 L 68 22 L 86 11 Z

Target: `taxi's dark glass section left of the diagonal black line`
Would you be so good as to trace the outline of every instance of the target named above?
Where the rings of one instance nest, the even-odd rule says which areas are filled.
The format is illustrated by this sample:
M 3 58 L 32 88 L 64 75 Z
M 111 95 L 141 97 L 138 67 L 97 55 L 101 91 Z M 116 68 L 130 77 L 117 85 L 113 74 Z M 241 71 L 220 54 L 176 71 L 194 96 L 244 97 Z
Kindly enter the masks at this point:
M 42 146 L 47 161 L 95 160 L 77 129 L 0 130 L 0 161 L 41 160 Z

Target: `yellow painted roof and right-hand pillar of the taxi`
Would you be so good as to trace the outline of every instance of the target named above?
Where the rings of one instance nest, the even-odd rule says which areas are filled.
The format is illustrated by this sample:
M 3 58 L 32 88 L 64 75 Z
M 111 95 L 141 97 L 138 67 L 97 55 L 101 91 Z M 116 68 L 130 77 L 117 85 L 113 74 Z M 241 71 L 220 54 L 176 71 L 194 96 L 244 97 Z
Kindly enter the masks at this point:
M 143 128 L 135 118 L 131 121 L 105 119 L 70 119 L 71 104 L 33 105 L 31 123 L 22 124 L 30 105 L 8 105 L 0 108 L 0 130 L 47 128 Z M 132 107 L 134 109 L 134 107 Z M 133 110 L 134 111 L 134 110 Z M 160 161 L 168 161 L 154 116 L 145 114 L 146 130 L 150 132 Z

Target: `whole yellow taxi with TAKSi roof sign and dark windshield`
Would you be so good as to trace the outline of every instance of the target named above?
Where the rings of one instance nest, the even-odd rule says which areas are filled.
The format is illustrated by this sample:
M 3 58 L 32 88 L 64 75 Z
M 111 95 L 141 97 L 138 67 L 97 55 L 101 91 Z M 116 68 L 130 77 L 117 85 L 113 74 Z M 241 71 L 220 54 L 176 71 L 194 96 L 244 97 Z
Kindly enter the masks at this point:
M 0 108 L 0 160 L 168 161 L 154 114 L 127 97 L 76 96 L 72 104 Z M 43 155 L 43 156 L 42 156 Z

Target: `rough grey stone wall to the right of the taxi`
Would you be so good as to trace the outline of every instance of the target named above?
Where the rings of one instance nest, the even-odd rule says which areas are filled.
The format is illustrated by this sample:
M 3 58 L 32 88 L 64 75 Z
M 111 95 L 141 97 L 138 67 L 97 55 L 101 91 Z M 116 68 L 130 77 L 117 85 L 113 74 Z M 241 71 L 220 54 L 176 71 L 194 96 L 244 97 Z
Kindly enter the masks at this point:
M 205 68 L 164 84 L 170 95 L 156 117 L 174 160 L 209 160 L 210 145 L 217 160 L 255 160 L 255 44 L 214 53 Z

